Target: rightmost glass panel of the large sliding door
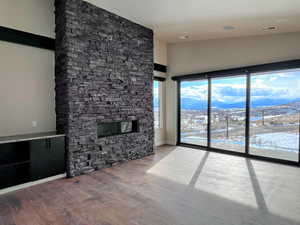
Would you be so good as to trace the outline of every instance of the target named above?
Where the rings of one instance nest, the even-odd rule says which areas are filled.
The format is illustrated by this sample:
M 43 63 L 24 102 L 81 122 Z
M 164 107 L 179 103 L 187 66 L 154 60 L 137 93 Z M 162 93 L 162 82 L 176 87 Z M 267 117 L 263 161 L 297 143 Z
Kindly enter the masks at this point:
M 249 153 L 298 161 L 300 71 L 253 74 L 250 106 Z

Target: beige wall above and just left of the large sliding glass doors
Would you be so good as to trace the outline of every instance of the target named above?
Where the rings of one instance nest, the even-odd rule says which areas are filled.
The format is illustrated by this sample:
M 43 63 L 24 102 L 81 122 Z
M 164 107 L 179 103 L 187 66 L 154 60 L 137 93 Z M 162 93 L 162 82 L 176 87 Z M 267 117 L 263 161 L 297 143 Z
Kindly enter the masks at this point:
M 176 143 L 177 96 L 172 76 L 300 59 L 300 33 L 168 45 L 167 143 Z

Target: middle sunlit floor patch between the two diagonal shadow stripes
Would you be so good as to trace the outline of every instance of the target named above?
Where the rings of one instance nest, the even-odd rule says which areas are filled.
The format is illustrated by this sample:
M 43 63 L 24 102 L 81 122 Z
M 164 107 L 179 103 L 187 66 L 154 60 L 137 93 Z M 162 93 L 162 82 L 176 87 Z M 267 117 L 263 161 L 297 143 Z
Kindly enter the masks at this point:
M 240 157 L 210 154 L 195 188 L 258 207 L 245 159 Z

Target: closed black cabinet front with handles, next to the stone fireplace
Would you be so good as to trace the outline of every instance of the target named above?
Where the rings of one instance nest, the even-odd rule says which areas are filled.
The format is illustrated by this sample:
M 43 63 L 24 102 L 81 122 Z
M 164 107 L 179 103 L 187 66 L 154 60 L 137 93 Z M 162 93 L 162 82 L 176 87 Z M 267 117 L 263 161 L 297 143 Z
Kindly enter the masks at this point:
M 64 137 L 31 142 L 31 178 L 38 180 L 65 172 Z

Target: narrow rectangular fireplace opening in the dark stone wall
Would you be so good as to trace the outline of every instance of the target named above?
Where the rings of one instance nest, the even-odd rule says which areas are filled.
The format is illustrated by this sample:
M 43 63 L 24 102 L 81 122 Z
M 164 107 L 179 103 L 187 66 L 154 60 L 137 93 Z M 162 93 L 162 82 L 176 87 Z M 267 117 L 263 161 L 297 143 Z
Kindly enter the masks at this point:
M 97 134 L 98 138 L 130 134 L 138 132 L 138 121 L 119 121 L 109 123 L 98 123 Z

